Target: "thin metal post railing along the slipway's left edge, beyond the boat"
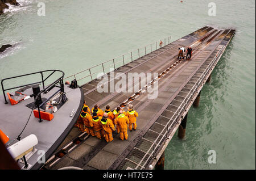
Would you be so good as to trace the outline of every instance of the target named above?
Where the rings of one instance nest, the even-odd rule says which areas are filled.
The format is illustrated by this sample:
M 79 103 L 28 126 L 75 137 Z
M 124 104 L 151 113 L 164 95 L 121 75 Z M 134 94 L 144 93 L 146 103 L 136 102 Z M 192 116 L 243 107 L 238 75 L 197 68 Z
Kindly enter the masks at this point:
M 168 36 L 167 39 L 168 39 L 168 44 L 170 44 L 171 36 Z M 153 49 L 154 46 L 152 46 L 152 45 L 154 45 L 154 44 L 155 44 L 155 49 Z M 165 46 L 168 45 L 168 44 L 167 44 L 166 38 L 164 38 L 164 45 L 162 45 L 162 47 L 165 47 Z M 146 46 L 144 46 L 144 47 L 142 47 L 142 48 L 138 48 L 138 49 L 131 50 L 130 52 L 125 53 L 125 54 L 122 54 L 121 56 L 112 58 L 111 60 L 102 62 L 101 64 L 94 65 L 94 66 L 92 66 L 92 67 L 89 68 L 89 69 L 85 69 L 85 70 L 79 71 L 78 73 L 75 73 L 75 74 L 73 74 L 73 75 L 69 75 L 68 77 L 65 77 L 64 79 L 71 78 L 71 77 L 77 79 L 77 76 L 76 76 L 76 75 L 81 74 L 81 73 L 83 73 L 83 72 L 85 72 L 85 71 L 89 71 L 89 74 L 88 74 L 88 75 L 85 75 L 84 77 L 77 79 L 77 81 L 81 81 L 82 79 L 85 79 L 85 78 L 87 78 L 87 77 L 90 77 L 90 78 L 91 78 L 90 81 L 92 81 L 92 80 L 93 80 L 93 75 L 96 74 L 96 73 L 103 72 L 104 74 L 108 74 L 109 71 L 105 71 L 107 68 L 114 67 L 114 69 L 117 69 L 117 68 L 119 68 L 119 67 L 121 67 L 121 66 L 123 66 L 123 65 L 129 64 L 130 62 L 133 62 L 134 60 L 137 59 L 137 58 L 134 58 L 134 57 L 141 58 L 142 56 L 145 56 L 146 54 L 151 53 L 151 52 L 153 52 L 154 50 L 158 50 L 158 49 L 160 49 L 160 46 L 158 45 L 158 41 L 155 41 L 155 43 L 148 44 L 148 45 L 146 45 Z M 128 57 L 126 57 L 127 55 L 128 55 Z M 118 58 L 119 58 L 119 60 L 118 60 Z M 126 60 L 130 60 L 130 61 L 125 64 L 125 61 L 126 61 Z M 112 64 L 110 64 L 110 65 L 107 66 L 107 67 L 104 66 L 104 64 L 109 63 L 109 62 L 112 63 Z M 115 67 L 115 65 L 116 65 L 116 64 L 119 64 L 120 62 L 122 62 L 122 65 L 121 65 L 121 66 L 118 66 L 118 67 Z M 100 70 L 98 70 L 98 71 L 92 73 L 91 70 L 92 70 L 93 68 L 97 68 L 97 67 L 100 67 Z M 88 81 L 88 82 L 89 82 L 89 81 Z M 86 83 L 87 83 L 87 82 L 86 82 Z

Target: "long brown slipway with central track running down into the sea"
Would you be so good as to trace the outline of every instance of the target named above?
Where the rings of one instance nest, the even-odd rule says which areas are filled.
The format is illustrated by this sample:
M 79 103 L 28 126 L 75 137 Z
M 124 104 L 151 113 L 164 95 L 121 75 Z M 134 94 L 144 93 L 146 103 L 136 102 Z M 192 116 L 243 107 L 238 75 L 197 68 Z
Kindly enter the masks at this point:
M 108 144 L 105 140 L 81 134 L 77 128 L 73 128 L 44 168 L 77 166 L 82 169 L 148 169 L 149 165 L 155 166 L 235 31 L 203 27 L 114 71 L 114 74 L 126 75 L 134 72 L 158 73 L 158 77 L 151 77 L 152 85 L 158 83 L 156 99 L 148 99 L 143 87 L 142 94 L 99 93 L 96 86 L 100 80 L 86 83 L 82 87 L 84 99 L 90 108 L 96 103 L 102 110 L 107 104 L 112 110 L 123 102 L 133 104 L 139 113 L 137 130 L 128 131 L 129 138 L 126 141 L 119 140 L 119 134 L 114 134 L 114 140 Z M 178 61 L 178 48 L 189 46 L 194 50 L 192 60 Z M 141 81 L 139 79 L 134 85 Z M 110 84 L 108 79 L 105 79 L 105 84 Z M 56 155 L 59 152 L 64 157 L 58 158 Z

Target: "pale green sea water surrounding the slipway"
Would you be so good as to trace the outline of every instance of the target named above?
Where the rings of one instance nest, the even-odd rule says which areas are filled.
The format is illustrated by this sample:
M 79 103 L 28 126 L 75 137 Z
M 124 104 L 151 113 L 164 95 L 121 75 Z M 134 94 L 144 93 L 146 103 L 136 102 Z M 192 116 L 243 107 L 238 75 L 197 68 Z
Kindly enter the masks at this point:
M 71 75 L 164 37 L 235 27 L 200 106 L 189 110 L 185 139 L 176 133 L 165 151 L 165 169 L 255 169 L 255 1 L 18 2 L 0 15 L 0 46 L 15 45 L 0 54 L 0 79 L 46 69 Z M 39 2 L 46 16 L 38 16 Z M 210 2 L 216 16 L 208 15 Z

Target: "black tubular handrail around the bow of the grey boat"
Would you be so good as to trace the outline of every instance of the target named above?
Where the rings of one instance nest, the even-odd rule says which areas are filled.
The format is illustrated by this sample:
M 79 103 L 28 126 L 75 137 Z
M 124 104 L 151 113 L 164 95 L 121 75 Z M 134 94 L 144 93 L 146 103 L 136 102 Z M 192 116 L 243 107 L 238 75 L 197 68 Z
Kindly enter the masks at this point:
M 43 76 L 43 73 L 46 72 L 46 71 L 52 71 L 52 73 L 49 74 L 49 75 L 47 76 L 47 78 L 44 79 L 44 78 L 43 78 L 43 77 L 44 77 L 44 76 Z M 3 96 L 4 96 L 4 98 L 5 98 L 5 104 L 8 103 L 8 102 L 7 102 L 7 99 L 6 99 L 6 95 L 5 95 L 5 91 L 7 91 L 7 90 L 12 90 L 12 89 L 20 88 L 20 87 L 35 85 L 35 84 L 37 84 L 37 83 L 42 83 L 42 84 L 43 84 L 43 90 L 48 89 L 48 87 L 49 87 L 49 86 L 52 86 L 52 84 L 49 85 L 47 88 L 45 88 L 45 87 L 44 87 L 44 82 L 45 82 L 49 77 L 51 77 L 51 75 L 52 75 L 53 73 L 55 73 L 55 71 L 59 71 L 59 72 L 62 73 L 61 77 L 58 78 L 55 82 L 53 82 L 53 83 L 56 84 L 56 82 L 59 82 L 60 79 L 63 80 L 63 78 L 64 78 L 65 73 L 64 73 L 63 71 L 61 71 L 61 70 L 44 70 L 44 71 L 37 71 L 37 72 L 34 72 L 34 73 L 30 73 L 30 74 L 17 75 L 17 76 L 15 76 L 15 77 L 9 77 L 9 78 L 1 79 L 1 86 L 2 86 L 2 91 L 3 91 Z M 11 87 L 11 88 L 9 88 L 9 89 L 4 89 L 4 87 L 3 87 L 3 81 L 6 81 L 6 80 L 8 80 L 8 79 L 18 78 L 18 77 L 25 77 L 25 76 L 28 76 L 28 75 L 34 75 L 34 74 L 41 74 L 42 81 L 34 82 L 34 83 L 28 83 L 28 84 L 26 84 L 26 85 L 20 85 L 20 86 L 16 86 L 16 87 Z

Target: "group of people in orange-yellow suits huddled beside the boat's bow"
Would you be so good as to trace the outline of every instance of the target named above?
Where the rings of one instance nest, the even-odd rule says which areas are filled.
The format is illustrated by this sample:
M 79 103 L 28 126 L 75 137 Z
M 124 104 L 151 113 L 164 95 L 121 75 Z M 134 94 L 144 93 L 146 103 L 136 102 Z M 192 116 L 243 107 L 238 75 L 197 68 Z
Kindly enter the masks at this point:
M 113 141 L 112 132 L 115 130 L 120 134 L 120 139 L 127 140 L 127 128 L 130 131 L 135 131 L 137 128 L 136 117 L 138 113 L 133 110 L 133 105 L 128 105 L 128 111 L 125 112 L 121 107 L 117 107 L 113 112 L 110 111 L 110 106 L 106 106 L 106 110 L 102 111 L 98 104 L 92 108 L 86 105 L 82 108 L 79 119 L 77 120 L 77 127 L 81 132 L 88 135 L 96 136 L 99 139 L 105 138 L 106 142 Z

